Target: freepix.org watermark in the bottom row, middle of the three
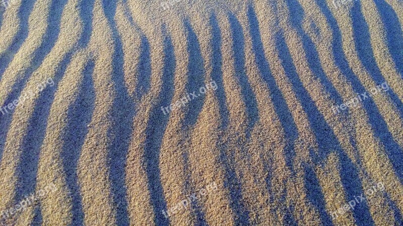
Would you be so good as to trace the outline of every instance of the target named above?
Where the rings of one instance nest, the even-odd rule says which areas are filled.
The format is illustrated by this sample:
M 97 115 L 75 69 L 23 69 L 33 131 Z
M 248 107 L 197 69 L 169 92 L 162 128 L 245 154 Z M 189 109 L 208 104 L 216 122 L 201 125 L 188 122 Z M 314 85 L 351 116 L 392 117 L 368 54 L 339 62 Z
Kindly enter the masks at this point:
M 215 190 L 217 190 L 216 182 L 210 183 L 209 185 L 206 186 L 206 188 L 200 189 L 198 192 L 191 194 L 189 197 L 178 202 L 176 205 L 167 209 L 166 211 L 162 210 L 162 214 L 164 214 L 165 218 L 172 217 L 179 210 L 186 209 L 187 207 L 189 207 L 190 203 L 200 200 L 201 198 L 207 196 L 208 194 L 212 193 Z

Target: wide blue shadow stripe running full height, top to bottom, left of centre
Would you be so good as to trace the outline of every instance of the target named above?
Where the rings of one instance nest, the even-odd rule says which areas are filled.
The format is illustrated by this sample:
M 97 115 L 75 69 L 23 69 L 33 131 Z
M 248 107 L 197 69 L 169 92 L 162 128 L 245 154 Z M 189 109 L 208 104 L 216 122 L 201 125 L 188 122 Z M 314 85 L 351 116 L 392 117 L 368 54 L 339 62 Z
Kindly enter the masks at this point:
M 112 138 L 108 147 L 108 167 L 111 194 L 114 208 L 116 209 L 116 224 L 128 225 L 129 217 L 127 210 L 127 190 L 125 186 L 125 166 L 136 111 L 135 100 L 128 94 L 124 81 L 123 63 L 125 59 L 123 46 L 114 20 L 116 4 L 117 1 L 102 2 L 104 13 L 112 29 L 114 39 L 112 81 L 115 88 L 115 97 L 111 109 L 112 128 L 108 130 L 108 137 Z

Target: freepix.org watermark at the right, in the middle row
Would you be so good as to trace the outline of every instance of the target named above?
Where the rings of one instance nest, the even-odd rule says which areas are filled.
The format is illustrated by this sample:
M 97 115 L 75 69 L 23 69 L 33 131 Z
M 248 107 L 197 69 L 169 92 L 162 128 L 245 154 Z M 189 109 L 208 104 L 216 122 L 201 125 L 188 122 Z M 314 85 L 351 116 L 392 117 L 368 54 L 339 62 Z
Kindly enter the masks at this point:
M 386 82 L 383 82 L 380 85 L 372 87 L 369 92 L 364 92 L 357 95 L 354 98 L 351 98 L 349 101 L 342 103 L 340 105 L 332 106 L 334 114 L 338 114 L 342 112 L 342 110 L 346 110 L 347 108 L 356 107 L 360 102 L 366 100 L 367 98 L 374 96 L 380 92 L 387 92 L 389 90 L 389 85 Z

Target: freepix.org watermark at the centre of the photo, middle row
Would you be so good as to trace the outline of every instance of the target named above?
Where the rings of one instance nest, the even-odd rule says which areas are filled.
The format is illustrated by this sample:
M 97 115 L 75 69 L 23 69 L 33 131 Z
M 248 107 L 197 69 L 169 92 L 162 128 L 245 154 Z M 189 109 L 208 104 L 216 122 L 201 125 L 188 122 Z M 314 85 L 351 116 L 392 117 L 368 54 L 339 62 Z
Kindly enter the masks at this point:
M 182 98 L 180 98 L 179 100 L 177 100 L 175 103 L 171 103 L 169 104 L 169 106 L 161 106 L 161 111 L 164 113 L 164 115 L 168 115 L 169 112 L 171 112 L 172 110 L 175 110 L 181 106 L 186 106 L 186 104 L 194 99 L 196 99 L 197 97 L 201 96 L 201 95 L 205 95 L 207 91 L 210 90 L 217 90 L 218 86 L 217 83 L 215 81 L 211 81 L 208 84 L 205 84 L 205 86 L 201 86 L 198 89 L 198 93 L 196 93 L 196 91 L 193 91 L 191 93 L 186 93 Z

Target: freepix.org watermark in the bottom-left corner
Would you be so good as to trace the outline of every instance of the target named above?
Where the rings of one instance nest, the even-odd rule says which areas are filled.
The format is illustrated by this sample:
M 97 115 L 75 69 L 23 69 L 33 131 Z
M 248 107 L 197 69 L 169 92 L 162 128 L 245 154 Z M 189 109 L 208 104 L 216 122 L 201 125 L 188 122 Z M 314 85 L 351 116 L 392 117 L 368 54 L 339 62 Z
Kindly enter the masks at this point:
M 44 189 L 38 190 L 36 193 L 32 193 L 29 196 L 25 196 L 24 199 L 21 200 L 20 203 L 6 209 L 5 211 L 1 212 L 1 219 L 2 221 L 7 220 L 8 218 L 12 218 L 13 215 L 16 213 L 21 213 L 22 211 L 26 210 L 29 206 L 35 204 L 35 202 L 45 195 L 49 195 L 50 192 L 55 192 L 57 190 L 56 185 L 50 183 Z M 1 221 L 0 221 L 1 222 Z

